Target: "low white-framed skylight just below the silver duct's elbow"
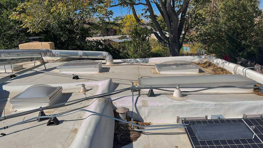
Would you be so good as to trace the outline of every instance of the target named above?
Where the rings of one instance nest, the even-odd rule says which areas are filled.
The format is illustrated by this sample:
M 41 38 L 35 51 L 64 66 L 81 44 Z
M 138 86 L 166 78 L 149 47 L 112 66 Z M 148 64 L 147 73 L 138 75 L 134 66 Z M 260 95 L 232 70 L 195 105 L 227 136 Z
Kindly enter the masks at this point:
M 102 69 L 102 62 L 93 60 L 75 60 L 57 67 L 60 73 L 97 74 Z

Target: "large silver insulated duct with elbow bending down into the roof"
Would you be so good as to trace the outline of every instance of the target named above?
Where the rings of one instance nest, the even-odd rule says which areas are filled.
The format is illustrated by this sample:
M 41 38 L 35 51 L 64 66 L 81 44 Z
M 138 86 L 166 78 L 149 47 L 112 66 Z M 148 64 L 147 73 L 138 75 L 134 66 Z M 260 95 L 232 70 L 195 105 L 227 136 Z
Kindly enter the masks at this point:
M 99 59 L 103 58 L 106 60 L 106 65 L 114 64 L 112 55 L 104 51 L 50 50 L 50 49 L 0 50 L 0 59 L 34 58 L 34 57 L 41 57 L 41 55 L 42 57 L 56 57 L 56 58 L 99 58 Z M 0 60 L 0 62 L 2 62 L 2 60 Z

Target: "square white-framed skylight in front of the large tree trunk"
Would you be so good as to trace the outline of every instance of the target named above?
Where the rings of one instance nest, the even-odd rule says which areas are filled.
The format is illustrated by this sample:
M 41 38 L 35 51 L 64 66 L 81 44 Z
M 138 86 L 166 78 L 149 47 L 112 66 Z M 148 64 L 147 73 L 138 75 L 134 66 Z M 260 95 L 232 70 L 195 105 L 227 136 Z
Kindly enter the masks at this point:
M 190 74 L 198 73 L 200 66 L 189 61 L 167 61 L 155 64 L 155 68 L 160 74 Z

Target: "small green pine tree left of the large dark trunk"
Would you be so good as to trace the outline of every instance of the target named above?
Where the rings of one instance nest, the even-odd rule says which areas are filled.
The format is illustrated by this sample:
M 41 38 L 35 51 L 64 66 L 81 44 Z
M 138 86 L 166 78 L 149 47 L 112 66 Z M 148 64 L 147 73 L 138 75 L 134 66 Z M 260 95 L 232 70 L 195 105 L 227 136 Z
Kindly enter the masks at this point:
M 131 31 L 131 41 L 127 46 L 129 58 L 147 58 L 150 56 L 149 34 L 147 30 L 134 27 Z

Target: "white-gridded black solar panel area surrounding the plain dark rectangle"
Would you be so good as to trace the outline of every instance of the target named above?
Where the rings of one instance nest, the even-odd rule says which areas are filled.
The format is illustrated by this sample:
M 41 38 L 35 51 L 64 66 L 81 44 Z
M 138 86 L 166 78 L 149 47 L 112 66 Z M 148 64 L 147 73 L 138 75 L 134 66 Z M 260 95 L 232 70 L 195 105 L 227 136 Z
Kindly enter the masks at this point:
M 255 134 L 253 138 L 199 140 L 193 127 L 191 125 L 187 125 L 186 133 L 193 148 L 263 148 L 262 117 L 244 119 L 183 120 L 182 122 L 183 124 L 245 123 L 248 127 L 255 127 L 255 129 L 252 130 Z

